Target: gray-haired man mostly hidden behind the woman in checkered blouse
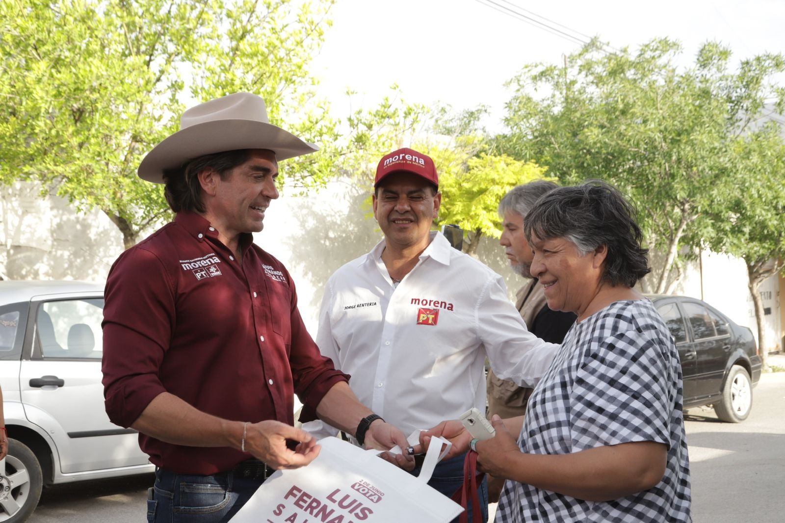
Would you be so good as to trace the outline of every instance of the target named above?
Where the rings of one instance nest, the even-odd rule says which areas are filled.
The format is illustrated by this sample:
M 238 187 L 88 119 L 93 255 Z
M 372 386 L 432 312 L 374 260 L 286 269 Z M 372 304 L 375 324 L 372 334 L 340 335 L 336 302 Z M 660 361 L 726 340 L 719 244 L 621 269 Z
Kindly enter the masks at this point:
M 574 313 L 551 310 L 537 279 L 531 276 L 531 252 L 524 235 L 524 216 L 540 196 L 557 188 L 553 181 L 536 180 L 518 185 L 508 192 L 498 204 L 498 214 L 502 217 L 502 237 L 498 243 L 505 248 L 513 271 L 526 278 L 528 283 L 517 293 L 516 308 L 526 322 L 531 334 L 546 342 L 561 343 L 564 335 L 575 322 Z M 488 419 L 498 414 L 502 419 L 524 415 L 532 389 L 517 386 L 514 382 L 499 379 L 494 371 L 488 369 L 487 396 Z M 503 481 L 488 481 L 488 497 L 491 502 L 498 499 Z

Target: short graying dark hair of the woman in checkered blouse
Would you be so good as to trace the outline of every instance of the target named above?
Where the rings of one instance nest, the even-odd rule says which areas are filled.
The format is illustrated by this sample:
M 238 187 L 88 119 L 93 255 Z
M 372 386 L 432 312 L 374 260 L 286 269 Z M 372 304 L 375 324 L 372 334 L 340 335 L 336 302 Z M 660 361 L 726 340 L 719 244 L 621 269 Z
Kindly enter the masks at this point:
M 564 238 L 582 255 L 601 245 L 608 247 L 604 282 L 633 287 L 652 269 L 648 249 L 641 247 L 643 234 L 635 210 L 626 198 L 605 181 L 560 187 L 542 196 L 524 217 L 524 232 L 539 240 Z

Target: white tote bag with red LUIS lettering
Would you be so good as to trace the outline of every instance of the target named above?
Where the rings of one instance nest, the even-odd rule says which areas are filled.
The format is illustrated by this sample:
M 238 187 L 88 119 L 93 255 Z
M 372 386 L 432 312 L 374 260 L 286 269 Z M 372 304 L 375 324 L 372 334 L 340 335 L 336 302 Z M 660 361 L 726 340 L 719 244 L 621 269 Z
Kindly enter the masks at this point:
M 463 511 L 427 485 L 450 448 L 446 440 L 433 438 L 418 477 L 379 458 L 380 451 L 336 437 L 319 444 L 309 465 L 268 477 L 232 523 L 448 523 Z

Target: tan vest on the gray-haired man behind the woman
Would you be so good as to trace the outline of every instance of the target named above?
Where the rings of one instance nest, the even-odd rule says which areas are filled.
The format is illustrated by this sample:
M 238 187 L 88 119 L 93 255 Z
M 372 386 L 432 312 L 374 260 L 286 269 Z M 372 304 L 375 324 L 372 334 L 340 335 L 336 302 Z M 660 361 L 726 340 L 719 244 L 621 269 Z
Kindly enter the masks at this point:
M 534 323 L 535 317 L 547 304 L 545 291 L 537 280 L 520 287 L 516 294 L 515 306 L 527 325 Z M 488 370 L 487 397 L 488 418 L 498 414 L 502 419 L 524 415 L 532 389 L 517 386 L 516 383 L 499 379 L 494 371 Z

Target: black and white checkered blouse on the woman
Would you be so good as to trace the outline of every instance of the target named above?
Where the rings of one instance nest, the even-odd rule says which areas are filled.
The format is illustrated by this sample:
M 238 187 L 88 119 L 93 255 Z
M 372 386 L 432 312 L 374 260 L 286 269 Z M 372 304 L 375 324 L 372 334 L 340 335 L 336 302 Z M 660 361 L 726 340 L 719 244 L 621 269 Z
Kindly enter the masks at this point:
M 668 445 L 663 480 L 608 502 L 588 502 L 507 481 L 496 521 L 692 521 L 681 414 L 681 364 L 648 300 L 615 302 L 571 327 L 529 400 L 522 452 L 567 454 L 601 445 Z

